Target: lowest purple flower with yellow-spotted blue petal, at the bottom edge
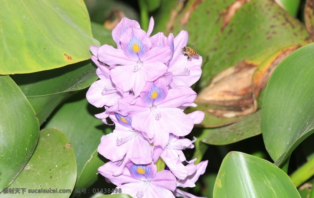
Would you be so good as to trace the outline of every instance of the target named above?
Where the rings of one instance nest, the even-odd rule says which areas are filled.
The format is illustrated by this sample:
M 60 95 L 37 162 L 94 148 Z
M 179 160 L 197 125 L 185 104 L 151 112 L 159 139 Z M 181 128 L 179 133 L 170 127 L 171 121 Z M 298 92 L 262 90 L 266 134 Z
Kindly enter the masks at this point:
M 127 163 L 124 172 L 119 176 L 113 176 L 112 170 L 117 166 L 112 162 L 98 168 L 98 172 L 108 178 L 123 193 L 132 197 L 174 197 L 176 189 L 176 178 L 167 170 L 157 172 L 155 164 Z M 172 191 L 172 192 L 171 192 Z

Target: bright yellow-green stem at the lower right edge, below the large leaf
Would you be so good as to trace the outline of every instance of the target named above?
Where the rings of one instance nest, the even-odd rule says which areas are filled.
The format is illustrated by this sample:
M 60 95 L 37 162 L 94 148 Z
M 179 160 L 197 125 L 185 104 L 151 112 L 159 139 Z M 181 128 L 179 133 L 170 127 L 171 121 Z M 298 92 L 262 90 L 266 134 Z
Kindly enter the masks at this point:
M 297 169 L 294 173 L 290 175 L 290 178 L 295 184 L 295 187 L 299 187 L 306 180 L 311 178 L 314 175 L 314 157 L 306 162 L 303 166 Z

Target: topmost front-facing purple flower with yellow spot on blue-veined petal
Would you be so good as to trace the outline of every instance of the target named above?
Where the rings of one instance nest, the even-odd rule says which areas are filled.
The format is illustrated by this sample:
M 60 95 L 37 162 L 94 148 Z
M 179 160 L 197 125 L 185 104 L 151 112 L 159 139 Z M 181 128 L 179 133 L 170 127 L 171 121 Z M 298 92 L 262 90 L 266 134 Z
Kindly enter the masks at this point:
M 119 39 L 121 49 L 101 46 L 97 55 L 101 62 L 119 65 L 110 71 L 111 80 L 124 92 L 133 89 L 138 96 L 147 82 L 152 82 L 167 71 L 164 64 L 171 57 L 169 47 L 153 47 L 146 32 L 128 28 Z

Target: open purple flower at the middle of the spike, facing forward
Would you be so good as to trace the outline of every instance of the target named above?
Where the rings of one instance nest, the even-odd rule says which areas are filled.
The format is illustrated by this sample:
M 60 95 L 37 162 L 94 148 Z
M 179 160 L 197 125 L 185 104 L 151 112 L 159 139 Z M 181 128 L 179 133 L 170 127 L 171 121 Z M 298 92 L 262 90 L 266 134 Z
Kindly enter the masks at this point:
M 140 97 L 119 99 L 118 105 L 122 114 L 133 114 L 132 127 L 146 133 L 154 139 L 154 145 L 165 147 L 169 141 L 169 133 L 185 136 L 193 128 L 194 120 L 177 107 L 191 104 L 196 93 L 187 87 L 173 88 L 163 78 L 147 83 Z

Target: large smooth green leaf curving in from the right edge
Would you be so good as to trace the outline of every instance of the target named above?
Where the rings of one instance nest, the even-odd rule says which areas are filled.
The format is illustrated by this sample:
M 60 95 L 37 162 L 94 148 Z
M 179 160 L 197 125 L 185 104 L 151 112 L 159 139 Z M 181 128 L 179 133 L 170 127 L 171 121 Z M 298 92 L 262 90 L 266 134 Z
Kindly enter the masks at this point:
M 280 165 L 314 132 L 314 43 L 290 54 L 275 69 L 262 106 L 266 149 Z

